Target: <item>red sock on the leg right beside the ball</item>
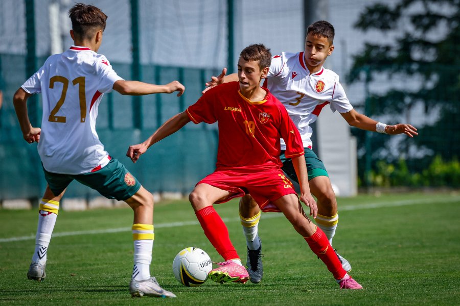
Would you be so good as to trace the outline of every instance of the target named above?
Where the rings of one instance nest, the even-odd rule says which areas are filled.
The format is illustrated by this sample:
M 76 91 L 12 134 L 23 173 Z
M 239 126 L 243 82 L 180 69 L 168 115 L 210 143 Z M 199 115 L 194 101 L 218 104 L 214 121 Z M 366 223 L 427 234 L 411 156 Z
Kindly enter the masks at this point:
M 204 230 L 204 235 L 216 248 L 217 252 L 225 261 L 231 259 L 239 259 L 235 247 L 230 241 L 227 226 L 220 218 L 219 214 L 212 206 L 200 209 L 196 213 L 196 217 Z

